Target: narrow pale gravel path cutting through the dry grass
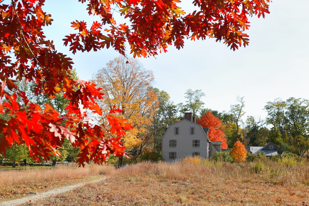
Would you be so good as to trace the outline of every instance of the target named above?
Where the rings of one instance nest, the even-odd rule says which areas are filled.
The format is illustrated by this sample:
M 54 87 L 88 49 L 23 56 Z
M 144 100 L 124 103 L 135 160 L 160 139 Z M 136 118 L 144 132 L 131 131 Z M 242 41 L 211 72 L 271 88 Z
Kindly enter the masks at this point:
M 53 189 L 53 190 L 49 190 L 47 192 L 42 192 L 42 193 L 40 193 L 38 195 L 32 195 L 32 196 L 23 197 L 23 198 L 20 198 L 20 199 L 0 202 L 0 206 L 19 205 L 19 204 L 23 204 L 23 203 L 29 202 L 30 200 L 31 201 L 39 200 L 39 199 L 42 199 L 42 198 L 50 197 L 52 195 L 57 195 L 57 194 L 60 194 L 60 193 L 66 192 L 66 191 L 73 190 L 76 187 L 82 187 L 82 186 L 84 186 L 85 184 L 88 184 L 88 183 L 95 183 L 95 182 L 99 182 L 99 181 L 102 181 L 102 180 L 105 180 L 105 179 L 106 179 L 106 177 L 101 178 L 101 179 L 92 180 L 90 182 L 78 183 L 76 185 L 70 185 L 70 186 L 66 186 L 66 187 L 59 187 L 59 188 L 56 188 L 56 189 Z

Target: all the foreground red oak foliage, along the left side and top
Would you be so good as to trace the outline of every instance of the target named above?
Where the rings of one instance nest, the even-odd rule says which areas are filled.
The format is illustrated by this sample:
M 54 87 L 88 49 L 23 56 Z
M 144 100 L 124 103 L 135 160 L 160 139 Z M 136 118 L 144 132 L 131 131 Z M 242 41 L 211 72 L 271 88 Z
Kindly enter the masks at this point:
M 184 38 L 212 37 L 235 50 L 248 45 L 244 32 L 249 27 L 248 16 L 264 17 L 269 13 L 269 0 L 194 0 L 196 11 L 188 14 L 177 6 L 178 0 L 78 2 L 86 3 L 89 15 L 98 16 L 100 21 L 90 25 L 83 20 L 72 22 L 76 33 L 63 40 L 73 53 L 113 47 L 123 55 L 129 50 L 134 57 L 166 52 L 171 44 L 182 48 Z M 81 148 L 78 163 L 82 165 L 90 160 L 104 162 L 109 154 L 125 155 L 119 139 L 131 126 L 112 116 L 121 112 L 117 108 L 104 116 L 109 125 L 92 125 L 88 121 L 86 109 L 102 115 L 96 101 L 104 94 L 91 82 L 69 77 L 72 59 L 57 52 L 52 40 L 45 39 L 42 27 L 50 25 L 52 19 L 42 11 L 43 5 L 44 0 L 0 1 L 0 112 L 8 116 L 0 120 L 0 154 L 5 155 L 14 144 L 26 144 L 34 159 L 49 158 L 50 153 L 59 154 L 57 149 L 66 138 Z M 114 13 L 124 21 L 116 23 Z M 53 98 L 64 92 L 70 99 L 68 114 L 59 114 L 48 104 L 42 108 L 31 103 L 20 90 L 10 94 L 9 90 L 18 89 L 15 80 L 22 79 L 36 82 L 35 95 L 43 93 Z

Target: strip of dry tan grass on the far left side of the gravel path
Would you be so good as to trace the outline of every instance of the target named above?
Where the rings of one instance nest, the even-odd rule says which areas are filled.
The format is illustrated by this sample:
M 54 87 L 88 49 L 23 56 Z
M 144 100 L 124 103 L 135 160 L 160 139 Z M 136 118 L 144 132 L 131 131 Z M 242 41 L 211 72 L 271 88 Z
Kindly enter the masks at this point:
M 30 168 L 20 170 L 0 170 L 0 203 L 29 195 L 31 192 L 43 192 L 57 187 L 72 185 L 99 179 L 114 170 L 112 166 L 76 164 L 56 166 L 55 168 Z

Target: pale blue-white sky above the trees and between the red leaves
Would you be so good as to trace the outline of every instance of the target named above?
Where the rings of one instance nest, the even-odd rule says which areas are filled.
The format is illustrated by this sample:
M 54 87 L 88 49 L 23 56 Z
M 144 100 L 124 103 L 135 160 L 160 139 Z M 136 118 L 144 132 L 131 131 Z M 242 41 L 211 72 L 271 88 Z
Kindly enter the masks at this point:
M 73 59 L 79 78 L 89 80 L 119 54 L 113 48 L 105 48 L 73 55 L 63 46 L 64 36 L 74 32 L 70 22 L 91 19 L 85 7 L 77 0 L 46 1 L 44 11 L 54 21 L 44 28 L 44 33 L 54 40 L 58 52 Z M 309 0 L 270 2 L 270 14 L 265 19 L 253 16 L 250 20 L 250 42 L 246 48 L 232 51 L 213 39 L 187 40 L 183 49 L 170 46 L 167 53 L 139 61 L 153 71 L 153 86 L 166 91 L 175 104 L 185 102 L 188 89 L 201 89 L 206 95 L 202 98 L 204 107 L 219 112 L 229 111 L 230 105 L 237 103 L 236 96 L 244 96 L 243 120 L 247 116 L 265 119 L 263 108 L 268 101 L 309 99 L 308 9 Z M 130 56 L 129 51 L 127 54 Z

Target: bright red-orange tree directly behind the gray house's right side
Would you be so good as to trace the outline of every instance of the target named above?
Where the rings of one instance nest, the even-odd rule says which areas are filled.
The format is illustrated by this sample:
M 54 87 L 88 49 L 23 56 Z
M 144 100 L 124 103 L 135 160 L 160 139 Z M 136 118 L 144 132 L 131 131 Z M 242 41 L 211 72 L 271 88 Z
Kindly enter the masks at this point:
M 225 139 L 225 133 L 222 131 L 224 126 L 222 126 L 222 121 L 215 117 L 210 111 L 207 111 L 197 119 L 197 124 L 202 127 L 208 127 L 208 136 L 210 141 L 222 142 L 221 149 L 227 149 L 227 143 Z

